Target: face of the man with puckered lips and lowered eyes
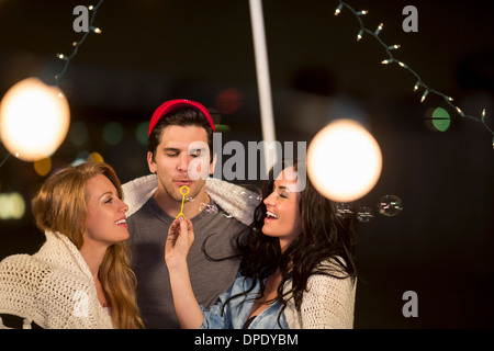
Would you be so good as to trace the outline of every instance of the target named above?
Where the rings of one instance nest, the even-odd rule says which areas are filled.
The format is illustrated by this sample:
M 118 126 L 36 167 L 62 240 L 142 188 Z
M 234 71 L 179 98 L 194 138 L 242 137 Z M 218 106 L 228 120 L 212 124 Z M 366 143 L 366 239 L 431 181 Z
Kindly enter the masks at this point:
M 160 135 L 153 154 L 147 154 L 149 170 L 158 176 L 157 195 L 177 202 L 182 201 L 180 188 L 189 186 L 187 197 L 202 199 L 205 196 L 205 177 L 214 170 L 210 162 L 206 131 L 199 126 L 166 127 Z M 199 173 L 202 177 L 199 177 Z

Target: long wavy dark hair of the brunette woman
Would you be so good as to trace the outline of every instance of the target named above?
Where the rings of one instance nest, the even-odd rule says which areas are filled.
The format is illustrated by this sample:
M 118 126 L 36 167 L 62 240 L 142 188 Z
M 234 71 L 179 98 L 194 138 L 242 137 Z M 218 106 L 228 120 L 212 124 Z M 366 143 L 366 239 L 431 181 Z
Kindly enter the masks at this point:
M 262 199 L 267 199 L 273 191 L 278 176 L 274 170 L 281 171 L 293 167 L 297 177 L 305 177 L 305 163 L 296 160 L 281 162 L 281 167 L 273 167 L 270 171 L 269 180 L 262 189 Z M 257 298 L 260 298 L 265 293 L 265 280 L 280 269 L 282 280 L 278 286 L 276 301 L 281 304 L 283 312 L 289 296 L 293 296 L 295 308 L 300 309 L 311 275 L 325 274 L 352 280 L 357 278 L 353 260 L 357 218 L 343 219 L 338 216 L 335 203 L 321 195 L 308 177 L 305 179 L 305 188 L 300 193 L 299 211 L 301 234 L 282 251 L 278 238 L 262 234 L 267 216 L 266 204 L 261 201 L 256 207 L 252 224 L 246 229 L 247 234 L 240 236 L 238 240 L 242 257 L 239 273 L 252 280 L 250 288 L 239 295 L 247 295 L 259 283 L 260 294 Z M 283 291 L 284 284 L 290 279 L 291 288 Z

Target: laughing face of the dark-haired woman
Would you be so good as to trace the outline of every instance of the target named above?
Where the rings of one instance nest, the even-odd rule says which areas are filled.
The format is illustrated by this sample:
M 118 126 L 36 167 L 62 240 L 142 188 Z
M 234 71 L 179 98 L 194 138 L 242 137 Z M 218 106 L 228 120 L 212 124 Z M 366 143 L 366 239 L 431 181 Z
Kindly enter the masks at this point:
M 281 249 L 287 248 L 302 231 L 299 201 L 296 172 L 290 167 L 278 176 L 272 193 L 263 200 L 267 216 L 262 233 L 279 238 Z

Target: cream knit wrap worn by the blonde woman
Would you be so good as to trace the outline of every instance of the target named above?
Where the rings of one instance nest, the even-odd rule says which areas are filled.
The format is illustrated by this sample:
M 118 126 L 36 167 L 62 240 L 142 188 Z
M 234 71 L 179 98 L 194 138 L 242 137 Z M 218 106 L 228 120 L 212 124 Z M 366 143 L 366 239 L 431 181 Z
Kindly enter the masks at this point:
M 113 328 L 79 250 L 65 235 L 45 235 L 35 254 L 0 262 L 0 314 L 24 318 L 27 329 L 32 321 L 44 329 Z

